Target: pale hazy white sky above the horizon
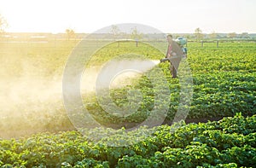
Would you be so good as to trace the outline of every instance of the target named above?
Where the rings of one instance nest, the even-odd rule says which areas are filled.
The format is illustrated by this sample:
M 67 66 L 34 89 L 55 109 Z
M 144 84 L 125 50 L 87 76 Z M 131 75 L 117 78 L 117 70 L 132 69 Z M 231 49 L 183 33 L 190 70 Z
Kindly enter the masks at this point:
M 256 0 L 0 0 L 7 32 L 95 32 L 139 23 L 162 32 L 256 32 Z

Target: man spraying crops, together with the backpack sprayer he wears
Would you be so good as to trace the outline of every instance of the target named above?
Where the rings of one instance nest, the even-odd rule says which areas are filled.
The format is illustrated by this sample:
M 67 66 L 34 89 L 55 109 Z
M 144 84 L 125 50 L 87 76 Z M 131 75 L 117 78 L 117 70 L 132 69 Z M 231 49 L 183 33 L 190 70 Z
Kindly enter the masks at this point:
M 172 34 L 167 35 L 168 49 L 166 58 L 160 62 L 170 61 L 170 71 L 172 78 L 177 78 L 177 69 L 182 58 L 187 57 L 187 49 L 184 44 L 187 43 L 185 38 L 177 38 L 172 40 Z

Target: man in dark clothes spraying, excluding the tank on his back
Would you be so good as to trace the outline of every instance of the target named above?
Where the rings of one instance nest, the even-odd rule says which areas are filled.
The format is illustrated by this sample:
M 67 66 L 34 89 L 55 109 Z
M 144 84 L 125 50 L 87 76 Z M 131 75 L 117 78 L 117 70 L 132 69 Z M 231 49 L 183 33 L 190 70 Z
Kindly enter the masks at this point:
M 177 78 L 177 68 L 184 54 L 177 42 L 172 40 L 172 34 L 167 35 L 167 42 L 168 49 L 166 59 L 162 59 L 161 62 L 166 60 L 170 61 L 172 78 Z

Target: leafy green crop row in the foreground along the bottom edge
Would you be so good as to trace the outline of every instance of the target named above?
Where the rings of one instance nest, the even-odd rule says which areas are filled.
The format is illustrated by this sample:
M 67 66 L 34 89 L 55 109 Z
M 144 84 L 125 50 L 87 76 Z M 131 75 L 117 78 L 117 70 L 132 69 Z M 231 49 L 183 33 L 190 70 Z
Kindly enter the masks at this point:
M 219 121 L 141 128 L 125 135 L 123 130 L 84 130 L 0 140 L 1 167 L 253 167 L 256 163 L 256 116 Z M 238 125 L 240 124 L 240 125 Z M 227 130 L 230 125 L 233 128 Z M 175 129 L 176 128 L 176 129 Z M 240 128 L 240 129 L 238 129 Z M 247 131 L 245 131 L 247 130 Z M 111 139 L 91 141 L 110 131 L 122 134 L 116 141 L 135 143 L 110 145 Z M 138 135 L 151 132 L 142 141 Z

